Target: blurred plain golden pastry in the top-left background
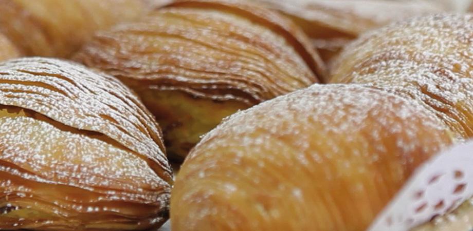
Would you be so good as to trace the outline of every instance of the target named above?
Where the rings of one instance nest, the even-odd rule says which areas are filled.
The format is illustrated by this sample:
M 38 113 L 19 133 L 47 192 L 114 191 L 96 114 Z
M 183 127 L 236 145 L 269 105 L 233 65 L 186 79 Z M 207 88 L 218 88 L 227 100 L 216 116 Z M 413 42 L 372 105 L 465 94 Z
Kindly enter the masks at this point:
M 97 30 L 134 20 L 141 0 L 0 0 L 0 33 L 27 56 L 68 57 Z

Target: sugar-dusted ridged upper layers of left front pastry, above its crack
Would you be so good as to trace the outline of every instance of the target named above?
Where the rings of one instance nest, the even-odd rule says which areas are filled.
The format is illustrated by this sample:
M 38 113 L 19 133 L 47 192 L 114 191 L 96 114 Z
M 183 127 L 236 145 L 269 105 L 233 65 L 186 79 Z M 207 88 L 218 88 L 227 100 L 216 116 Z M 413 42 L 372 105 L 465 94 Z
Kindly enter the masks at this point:
M 171 172 L 157 123 L 138 97 L 111 76 L 60 60 L 24 58 L 0 64 L 0 89 L 0 104 L 100 132 Z

